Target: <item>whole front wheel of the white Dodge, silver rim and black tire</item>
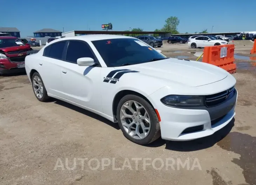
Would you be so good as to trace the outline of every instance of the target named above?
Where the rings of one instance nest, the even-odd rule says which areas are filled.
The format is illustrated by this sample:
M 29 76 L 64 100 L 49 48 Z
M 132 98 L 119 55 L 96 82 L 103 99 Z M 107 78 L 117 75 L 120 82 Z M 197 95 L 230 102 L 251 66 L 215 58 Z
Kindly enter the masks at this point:
M 139 145 L 160 137 L 160 124 L 154 108 L 142 97 L 124 96 L 117 106 L 117 120 L 123 135 Z

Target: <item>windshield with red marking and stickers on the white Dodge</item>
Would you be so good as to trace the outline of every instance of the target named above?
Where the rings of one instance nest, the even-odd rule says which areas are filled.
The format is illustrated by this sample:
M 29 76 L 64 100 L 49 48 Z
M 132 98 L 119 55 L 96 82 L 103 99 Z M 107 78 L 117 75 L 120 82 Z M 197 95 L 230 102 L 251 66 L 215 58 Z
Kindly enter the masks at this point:
M 141 64 L 166 59 L 161 53 L 135 38 L 92 41 L 107 67 Z

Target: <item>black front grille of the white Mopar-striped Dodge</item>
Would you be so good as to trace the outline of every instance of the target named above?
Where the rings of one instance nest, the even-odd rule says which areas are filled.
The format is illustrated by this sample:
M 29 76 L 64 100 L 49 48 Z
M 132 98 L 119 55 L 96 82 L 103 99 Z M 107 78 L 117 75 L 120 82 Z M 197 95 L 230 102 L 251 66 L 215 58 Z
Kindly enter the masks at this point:
M 227 101 L 228 99 L 232 98 L 234 94 L 235 94 L 235 87 L 231 87 L 230 89 L 219 92 L 217 94 L 207 95 L 206 101 L 205 101 L 206 106 L 207 107 L 217 106 Z

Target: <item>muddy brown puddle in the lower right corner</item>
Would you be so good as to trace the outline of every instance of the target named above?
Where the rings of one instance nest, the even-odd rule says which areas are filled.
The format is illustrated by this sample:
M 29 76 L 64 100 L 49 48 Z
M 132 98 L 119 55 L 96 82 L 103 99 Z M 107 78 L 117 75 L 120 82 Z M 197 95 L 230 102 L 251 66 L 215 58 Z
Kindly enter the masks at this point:
M 230 132 L 217 143 L 222 149 L 239 154 L 232 162 L 243 169 L 245 182 L 256 184 L 256 137 L 239 132 Z

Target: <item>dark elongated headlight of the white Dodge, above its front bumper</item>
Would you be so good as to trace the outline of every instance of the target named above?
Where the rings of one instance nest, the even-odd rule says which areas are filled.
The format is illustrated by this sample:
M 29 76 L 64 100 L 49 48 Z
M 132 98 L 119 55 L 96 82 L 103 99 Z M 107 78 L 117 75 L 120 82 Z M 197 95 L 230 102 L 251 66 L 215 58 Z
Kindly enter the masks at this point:
M 161 102 L 170 106 L 204 106 L 202 96 L 168 95 L 163 97 Z

